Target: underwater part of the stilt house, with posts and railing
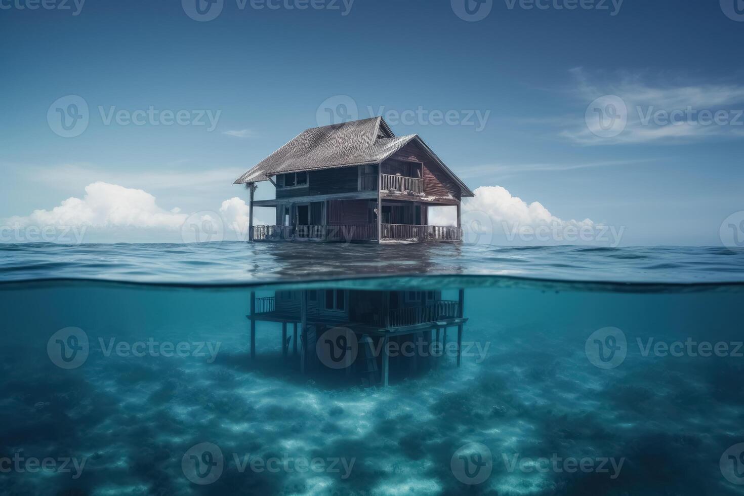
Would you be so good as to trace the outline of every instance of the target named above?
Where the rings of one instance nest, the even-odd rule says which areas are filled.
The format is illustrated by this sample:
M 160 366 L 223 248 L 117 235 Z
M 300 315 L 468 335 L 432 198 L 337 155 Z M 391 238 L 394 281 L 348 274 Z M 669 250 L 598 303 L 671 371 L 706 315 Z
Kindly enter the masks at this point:
M 457 290 L 457 300 L 452 299 L 454 290 L 448 291 L 450 299 L 431 290 L 305 289 L 266 296 L 251 292 L 246 315 L 251 323 L 251 358 L 256 355 L 256 323 L 264 321 L 282 324 L 282 355 L 289 358 L 292 347 L 302 373 L 324 367 L 344 369 L 361 373 L 367 385 L 386 386 L 391 355 L 394 372 L 405 376 L 420 367 L 439 367 L 447 358 L 444 350 L 454 351 L 459 367 L 468 320 L 464 289 Z M 287 335 L 289 324 L 292 336 Z M 458 329 L 456 346 L 455 341 L 447 345 L 449 327 Z M 342 346 L 336 347 L 339 342 Z

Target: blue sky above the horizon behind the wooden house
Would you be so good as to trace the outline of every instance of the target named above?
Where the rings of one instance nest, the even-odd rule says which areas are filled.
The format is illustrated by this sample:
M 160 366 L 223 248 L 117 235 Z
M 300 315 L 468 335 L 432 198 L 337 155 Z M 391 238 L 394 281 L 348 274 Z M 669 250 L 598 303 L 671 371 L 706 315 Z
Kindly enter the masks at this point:
M 623 245 L 720 245 L 722 221 L 744 209 L 744 15 L 734 0 L 585 0 L 591 8 L 574 10 L 571 0 L 493 0 L 470 4 L 476 16 L 490 7 L 472 22 L 458 16 L 464 0 L 222 0 L 207 22 L 187 15 L 195 0 L 61 1 L 49 5 L 70 8 L 0 1 L 12 48 L 0 56 L 0 219 L 71 197 L 94 210 L 85 196 L 97 181 L 122 187 L 99 195 L 125 203 L 147 203 L 124 191 L 144 190 L 164 216 L 218 211 L 246 199 L 237 175 L 318 125 L 329 98 L 348 101 L 339 95 L 353 116 L 382 111 L 397 134 L 420 134 L 471 189 L 498 185 L 559 219 L 623 227 Z M 71 138 L 48 120 L 68 95 L 89 108 Z M 588 124 L 605 95 L 626 105 L 619 135 Z M 126 121 L 150 107 L 181 111 L 185 124 Z M 682 124 L 658 114 L 688 107 Z M 418 109 L 425 117 L 396 118 Z M 119 111 L 124 120 L 108 120 Z M 721 123 L 701 124 L 705 111 L 724 112 Z M 260 187 L 259 198 L 271 194 Z M 153 212 L 144 227 L 161 218 Z M 97 240 L 138 240 L 130 233 L 104 226 Z

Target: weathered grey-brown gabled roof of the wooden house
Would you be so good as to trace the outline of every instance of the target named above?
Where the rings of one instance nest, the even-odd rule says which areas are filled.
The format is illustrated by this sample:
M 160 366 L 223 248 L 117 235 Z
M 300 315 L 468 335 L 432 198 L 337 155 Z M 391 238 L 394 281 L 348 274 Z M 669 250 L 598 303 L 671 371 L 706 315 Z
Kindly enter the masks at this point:
M 305 129 L 234 184 L 268 181 L 272 175 L 283 173 L 379 164 L 411 141 L 417 141 L 458 182 L 462 196 L 475 196 L 418 135 L 396 137 L 382 117 Z

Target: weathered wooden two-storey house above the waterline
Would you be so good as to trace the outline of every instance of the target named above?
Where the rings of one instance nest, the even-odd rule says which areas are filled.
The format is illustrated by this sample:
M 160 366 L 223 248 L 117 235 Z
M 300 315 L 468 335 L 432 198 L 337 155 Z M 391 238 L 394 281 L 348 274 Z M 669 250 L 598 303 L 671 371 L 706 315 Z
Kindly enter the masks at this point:
M 275 199 L 254 201 L 257 183 Z M 382 117 L 301 132 L 237 178 L 250 197 L 250 241 L 460 241 L 460 202 L 474 196 L 418 135 L 397 137 Z M 431 225 L 430 206 L 456 225 Z M 253 225 L 253 208 L 275 209 Z

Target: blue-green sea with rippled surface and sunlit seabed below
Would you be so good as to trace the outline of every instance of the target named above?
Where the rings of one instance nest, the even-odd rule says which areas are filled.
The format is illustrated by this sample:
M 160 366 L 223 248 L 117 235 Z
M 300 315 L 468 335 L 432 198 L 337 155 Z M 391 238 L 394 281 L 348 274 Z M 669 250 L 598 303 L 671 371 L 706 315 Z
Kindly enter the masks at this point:
M 378 294 L 460 364 L 251 350 Z M 0 245 L 0 494 L 744 495 L 743 309 L 728 248 Z

